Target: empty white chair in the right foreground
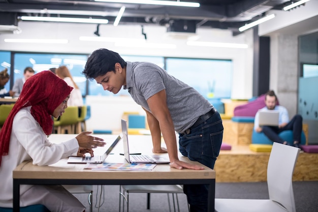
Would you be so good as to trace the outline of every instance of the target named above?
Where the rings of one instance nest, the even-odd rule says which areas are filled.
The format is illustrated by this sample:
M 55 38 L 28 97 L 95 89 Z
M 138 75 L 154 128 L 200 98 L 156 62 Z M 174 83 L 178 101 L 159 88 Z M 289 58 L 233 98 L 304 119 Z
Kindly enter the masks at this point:
M 215 199 L 217 212 L 296 212 L 293 172 L 300 149 L 273 143 L 267 167 L 269 199 Z

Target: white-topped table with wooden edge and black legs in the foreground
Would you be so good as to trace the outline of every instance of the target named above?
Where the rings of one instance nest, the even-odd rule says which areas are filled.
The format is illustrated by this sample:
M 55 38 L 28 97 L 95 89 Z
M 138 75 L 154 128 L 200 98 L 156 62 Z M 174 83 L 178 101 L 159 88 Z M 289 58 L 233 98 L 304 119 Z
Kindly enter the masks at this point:
M 65 141 L 76 135 L 54 134 L 49 137 L 51 142 Z M 116 135 L 96 135 L 111 144 Z M 147 140 L 147 141 L 146 141 Z M 143 146 L 151 144 L 151 136 L 130 136 L 130 143 L 142 142 Z M 120 142 L 121 143 L 121 142 Z M 147 146 L 146 145 L 146 146 Z M 141 145 L 139 148 L 142 148 Z M 134 145 L 132 146 L 134 148 Z M 144 149 L 139 149 L 144 153 Z M 151 148 L 150 148 L 151 150 Z M 114 154 L 104 162 L 126 163 L 122 147 L 118 144 Z M 20 211 L 20 185 L 174 185 L 174 184 L 208 184 L 208 211 L 214 211 L 215 171 L 198 163 L 189 161 L 186 157 L 180 160 L 203 166 L 204 170 L 178 170 L 170 168 L 169 164 L 157 165 L 152 171 L 91 171 L 84 169 L 85 164 L 68 164 L 67 159 L 50 166 L 35 166 L 31 161 L 25 161 L 13 171 L 13 211 Z

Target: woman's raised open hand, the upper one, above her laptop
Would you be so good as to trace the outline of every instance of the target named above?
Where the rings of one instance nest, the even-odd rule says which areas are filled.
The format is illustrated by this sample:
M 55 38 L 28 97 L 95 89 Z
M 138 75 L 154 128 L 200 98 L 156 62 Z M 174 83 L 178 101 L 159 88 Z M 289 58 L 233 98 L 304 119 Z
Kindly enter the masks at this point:
M 78 145 L 82 148 L 96 148 L 98 146 L 105 146 L 104 139 L 90 136 L 91 132 L 82 132 L 76 136 Z

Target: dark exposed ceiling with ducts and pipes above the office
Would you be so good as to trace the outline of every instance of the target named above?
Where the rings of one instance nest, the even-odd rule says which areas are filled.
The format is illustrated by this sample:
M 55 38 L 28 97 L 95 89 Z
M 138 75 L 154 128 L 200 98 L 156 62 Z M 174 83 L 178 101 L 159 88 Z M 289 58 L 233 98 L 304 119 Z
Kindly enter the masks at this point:
M 230 29 L 233 33 L 271 9 L 282 9 L 289 0 L 198 0 L 199 8 L 103 3 L 91 0 L 0 0 L 0 13 L 18 16 L 104 18 L 113 24 L 125 6 L 119 24 L 163 25 L 169 33 L 195 33 L 198 27 Z M 295 1 L 294 1 L 295 2 Z M 188 24 L 184 24 L 184 23 Z M 6 24 L 8 25 L 8 24 Z M 185 29 L 187 28 L 187 29 Z

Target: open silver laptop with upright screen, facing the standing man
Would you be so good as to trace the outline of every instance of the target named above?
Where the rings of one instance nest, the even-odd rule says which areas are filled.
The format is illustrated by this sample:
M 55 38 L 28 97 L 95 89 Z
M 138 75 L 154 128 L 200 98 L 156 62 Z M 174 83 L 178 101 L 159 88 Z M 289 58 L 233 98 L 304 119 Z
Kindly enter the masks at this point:
M 128 126 L 127 121 L 121 119 L 121 131 L 123 136 L 123 155 L 129 163 L 170 163 L 169 158 L 161 155 L 130 155 L 128 144 Z

